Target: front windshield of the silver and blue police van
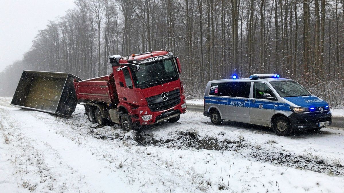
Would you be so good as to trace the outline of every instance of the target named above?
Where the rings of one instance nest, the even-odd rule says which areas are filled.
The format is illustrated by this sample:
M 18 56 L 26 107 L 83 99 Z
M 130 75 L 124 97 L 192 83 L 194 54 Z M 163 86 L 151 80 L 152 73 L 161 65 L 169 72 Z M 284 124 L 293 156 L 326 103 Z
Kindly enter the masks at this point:
M 270 82 L 270 84 L 281 97 L 311 95 L 310 92 L 308 92 L 299 83 L 293 80 L 272 81 Z

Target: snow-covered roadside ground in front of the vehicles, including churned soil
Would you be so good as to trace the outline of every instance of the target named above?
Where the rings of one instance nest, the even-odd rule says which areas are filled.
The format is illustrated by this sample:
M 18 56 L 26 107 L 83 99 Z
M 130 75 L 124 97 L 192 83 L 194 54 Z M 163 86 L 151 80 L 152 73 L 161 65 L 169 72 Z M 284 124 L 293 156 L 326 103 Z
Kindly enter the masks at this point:
M 276 136 L 188 111 L 126 133 L 0 98 L 0 192 L 343 192 L 344 131 Z M 203 101 L 202 101 L 203 102 Z M 189 103 L 190 104 L 190 103 Z

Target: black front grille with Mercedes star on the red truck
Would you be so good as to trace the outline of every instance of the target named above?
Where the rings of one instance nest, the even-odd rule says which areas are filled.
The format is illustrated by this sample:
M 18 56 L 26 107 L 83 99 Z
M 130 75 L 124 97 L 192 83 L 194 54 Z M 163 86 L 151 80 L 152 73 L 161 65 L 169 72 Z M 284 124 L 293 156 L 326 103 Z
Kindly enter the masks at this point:
M 146 98 L 147 103 L 148 103 L 148 107 L 152 112 L 170 109 L 171 107 L 180 103 L 180 91 L 179 91 L 179 89 L 173 90 L 170 92 L 166 92 L 166 93 L 169 95 L 169 97 L 165 101 L 163 101 L 161 99 L 162 93 Z

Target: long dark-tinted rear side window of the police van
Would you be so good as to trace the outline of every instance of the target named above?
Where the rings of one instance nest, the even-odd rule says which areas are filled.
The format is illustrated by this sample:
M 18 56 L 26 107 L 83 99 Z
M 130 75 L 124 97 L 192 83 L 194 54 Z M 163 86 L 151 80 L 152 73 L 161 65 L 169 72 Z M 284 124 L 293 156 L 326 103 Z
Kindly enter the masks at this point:
M 251 82 L 214 82 L 209 95 L 249 98 Z

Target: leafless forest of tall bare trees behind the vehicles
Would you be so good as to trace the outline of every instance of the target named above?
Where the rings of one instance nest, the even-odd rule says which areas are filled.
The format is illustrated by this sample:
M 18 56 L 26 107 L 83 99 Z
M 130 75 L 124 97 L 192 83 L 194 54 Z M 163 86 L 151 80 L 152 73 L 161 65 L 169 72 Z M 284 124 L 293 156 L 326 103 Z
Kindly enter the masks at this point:
M 233 73 L 279 73 L 344 107 L 343 0 L 77 0 L 49 21 L 20 61 L 0 73 L 11 96 L 23 69 L 109 74 L 108 56 L 169 48 L 187 98 Z M 39 13 L 37 13 L 39 14 Z M 23 32 L 25 33 L 25 32 Z

